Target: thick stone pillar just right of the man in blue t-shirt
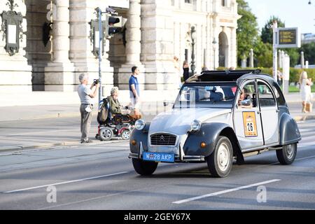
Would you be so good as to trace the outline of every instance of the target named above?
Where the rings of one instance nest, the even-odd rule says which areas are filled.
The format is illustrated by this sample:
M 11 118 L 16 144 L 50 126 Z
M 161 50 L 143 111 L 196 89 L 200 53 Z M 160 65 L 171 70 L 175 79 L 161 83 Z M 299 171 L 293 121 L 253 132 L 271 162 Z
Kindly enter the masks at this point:
M 171 1 L 144 0 L 141 4 L 142 53 L 147 90 L 179 87 L 174 68 L 174 19 Z

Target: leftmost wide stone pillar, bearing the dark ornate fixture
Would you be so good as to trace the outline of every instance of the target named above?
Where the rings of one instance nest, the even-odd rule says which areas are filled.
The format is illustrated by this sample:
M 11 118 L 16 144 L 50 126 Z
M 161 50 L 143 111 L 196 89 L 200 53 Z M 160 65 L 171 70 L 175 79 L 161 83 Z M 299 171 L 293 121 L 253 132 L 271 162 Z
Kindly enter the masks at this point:
M 0 1 L 1 13 L 3 10 L 8 11 L 10 7 L 6 5 L 8 1 Z M 27 7 L 22 0 L 15 0 L 17 3 L 13 10 L 21 13 L 24 17 L 22 20 L 22 33 L 20 38 L 20 49 L 15 55 L 10 56 L 5 50 L 6 38 L 3 37 L 3 30 L 0 29 L 0 94 L 8 92 L 31 92 L 31 66 L 27 62 L 27 20 L 25 15 Z M 0 16 L 0 25 L 2 18 Z

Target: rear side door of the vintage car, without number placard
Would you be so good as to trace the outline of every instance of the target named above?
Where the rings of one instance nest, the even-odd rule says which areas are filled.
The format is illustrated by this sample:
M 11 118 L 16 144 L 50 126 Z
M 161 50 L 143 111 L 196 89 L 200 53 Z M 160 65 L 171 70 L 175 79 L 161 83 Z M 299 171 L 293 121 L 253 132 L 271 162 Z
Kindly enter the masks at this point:
M 262 132 L 264 134 L 265 145 L 278 144 L 278 106 L 274 92 L 267 82 L 258 79 L 258 101 L 262 119 Z

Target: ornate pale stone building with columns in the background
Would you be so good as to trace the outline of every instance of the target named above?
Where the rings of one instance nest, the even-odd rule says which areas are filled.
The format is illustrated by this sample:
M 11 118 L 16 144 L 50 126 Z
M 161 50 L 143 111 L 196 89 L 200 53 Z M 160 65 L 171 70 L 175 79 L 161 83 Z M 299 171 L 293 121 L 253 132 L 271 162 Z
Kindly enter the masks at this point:
M 117 0 L 118 1 L 118 0 Z M 128 1 L 128 0 L 120 0 Z M 73 91 L 80 73 L 98 77 L 93 54 L 91 21 L 95 8 L 106 10 L 111 0 L 0 0 L 0 92 Z M 236 0 L 130 0 L 129 8 L 115 8 L 128 22 L 122 33 L 106 40 L 102 60 L 104 91 L 127 88 L 131 67 L 139 66 L 145 90 L 178 87 L 179 67 L 191 62 L 191 27 L 195 27 L 195 66 L 237 65 Z M 12 5 L 12 6 L 11 6 Z M 8 26 L 3 16 L 22 15 Z M 3 14 L 4 13 L 4 14 Z M 8 50 L 16 42 L 18 50 Z M 10 40 L 8 40 L 10 38 Z M 214 41 L 215 40 L 215 41 Z M 15 43 L 16 45 L 16 43 Z M 15 46 L 13 44 L 13 46 Z M 182 71 L 180 71 L 182 73 Z

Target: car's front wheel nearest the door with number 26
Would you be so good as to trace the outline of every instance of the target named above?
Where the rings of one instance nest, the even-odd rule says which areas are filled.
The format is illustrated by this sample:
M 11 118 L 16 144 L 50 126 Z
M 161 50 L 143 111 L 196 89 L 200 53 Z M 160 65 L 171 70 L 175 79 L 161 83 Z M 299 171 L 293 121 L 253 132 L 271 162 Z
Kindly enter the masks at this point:
M 230 174 L 233 162 L 233 149 L 230 139 L 218 137 L 214 152 L 207 158 L 209 172 L 216 177 L 225 177 Z

